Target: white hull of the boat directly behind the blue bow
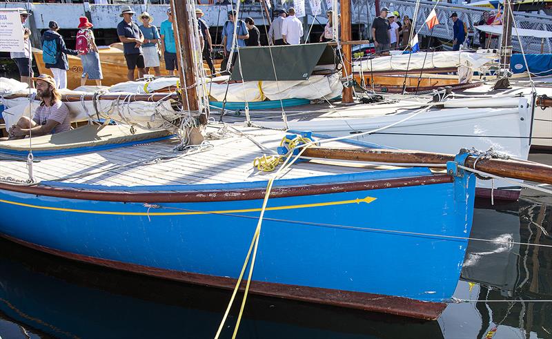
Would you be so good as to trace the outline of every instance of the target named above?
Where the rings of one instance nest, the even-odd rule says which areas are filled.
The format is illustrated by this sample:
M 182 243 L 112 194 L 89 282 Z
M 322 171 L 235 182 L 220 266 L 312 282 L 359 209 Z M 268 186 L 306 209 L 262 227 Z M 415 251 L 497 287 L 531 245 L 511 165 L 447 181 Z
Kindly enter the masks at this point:
M 311 130 L 319 135 L 342 137 L 364 133 L 415 113 L 355 118 L 289 121 L 290 130 Z M 255 122 L 256 125 L 282 128 L 281 122 Z M 515 159 L 529 156 L 531 109 L 526 99 L 516 108 L 455 108 L 420 113 L 396 126 L 371 135 L 351 139 L 393 148 L 456 154 L 460 148 L 495 151 Z M 377 147 L 375 145 L 375 147 Z M 478 187 L 491 188 L 490 181 L 479 181 Z M 515 186 L 495 180 L 495 188 Z

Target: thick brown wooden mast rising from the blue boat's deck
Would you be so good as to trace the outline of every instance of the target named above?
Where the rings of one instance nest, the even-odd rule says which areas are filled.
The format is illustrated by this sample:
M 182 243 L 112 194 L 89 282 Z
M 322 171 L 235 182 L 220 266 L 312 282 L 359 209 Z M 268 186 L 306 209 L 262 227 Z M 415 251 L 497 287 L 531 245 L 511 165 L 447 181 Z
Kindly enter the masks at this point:
M 178 73 L 180 78 L 179 94 L 185 110 L 199 112 L 197 88 L 193 86 L 197 79 L 197 70 L 193 65 L 193 33 L 190 32 L 190 17 L 188 0 L 170 0 L 172 10 L 172 29 L 175 31 L 177 47 Z M 186 88 L 186 86 L 188 88 Z M 206 124 L 207 117 L 199 112 L 199 122 Z

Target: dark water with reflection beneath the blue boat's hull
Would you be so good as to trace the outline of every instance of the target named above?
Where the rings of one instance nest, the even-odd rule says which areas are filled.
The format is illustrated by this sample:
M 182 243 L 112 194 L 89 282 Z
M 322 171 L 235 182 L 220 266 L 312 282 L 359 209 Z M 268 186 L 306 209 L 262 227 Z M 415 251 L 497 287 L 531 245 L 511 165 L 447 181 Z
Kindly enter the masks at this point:
M 80 264 L 1 239 L 0 272 L 0 311 L 23 327 L 59 338 L 213 338 L 231 293 Z M 231 336 L 234 322 L 232 316 L 222 338 Z M 402 338 L 404 333 L 442 338 L 435 321 L 248 296 L 239 338 Z

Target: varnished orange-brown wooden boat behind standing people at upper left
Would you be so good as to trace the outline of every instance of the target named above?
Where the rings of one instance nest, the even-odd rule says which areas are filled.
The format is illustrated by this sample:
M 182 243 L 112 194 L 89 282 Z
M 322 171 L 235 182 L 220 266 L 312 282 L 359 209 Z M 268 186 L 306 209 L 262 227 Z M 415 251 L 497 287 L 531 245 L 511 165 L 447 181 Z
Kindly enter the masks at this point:
M 38 48 L 32 48 L 32 54 L 34 60 L 37 62 L 40 74 L 46 73 L 52 75 L 52 72 L 46 68 L 44 61 L 42 60 L 42 50 Z M 75 89 L 81 86 L 82 64 L 79 57 L 68 55 L 69 70 L 67 71 L 67 88 Z M 99 59 L 101 62 L 101 70 L 103 72 L 103 79 L 101 84 L 103 86 L 113 86 L 121 82 L 127 81 L 126 79 L 126 61 L 123 55 L 123 43 L 112 43 L 110 46 L 101 46 L 99 48 Z M 215 68 L 220 68 L 221 60 L 213 60 Z M 209 70 L 207 64 L 204 64 L 207 74 Z M 150 74 L 153 74 L 153 70 L 150 70 Z M 165 69 L 165 61 L 161 60 L 161 75 L 168 75 Z M 94 81 L 88 80 L 87 85 L 95 85 Z

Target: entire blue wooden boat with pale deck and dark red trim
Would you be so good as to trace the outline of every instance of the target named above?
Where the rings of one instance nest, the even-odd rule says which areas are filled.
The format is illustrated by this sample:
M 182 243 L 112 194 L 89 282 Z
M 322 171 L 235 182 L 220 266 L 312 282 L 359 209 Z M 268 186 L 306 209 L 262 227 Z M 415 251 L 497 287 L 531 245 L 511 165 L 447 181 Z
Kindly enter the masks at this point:
M 282 132 L 242 128 L 253 137 L 182 154 L 177 139 L 147 133 L 106 148 L 118 130 L 106 126 L 86 145 L 59 142 L 79 129 L 34 138 L 35 184 L 23 183 L 28 141 L 0 144 L 1 235 L 65 258 L 232 288 L 271 175 L 251 164 L 267 151 L 258 145 L 276 149 Z M 91 151 L 95 143 L 103 147 Z M 270 193 L 250 291 L 435 319 L 460 276 L 474 192 L 475 177 L 453 169 L 294 164 Z

